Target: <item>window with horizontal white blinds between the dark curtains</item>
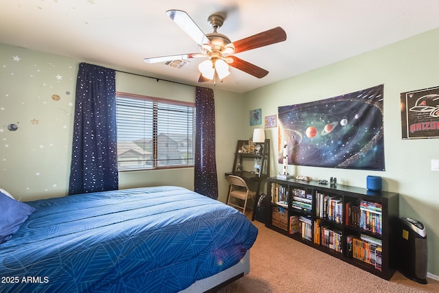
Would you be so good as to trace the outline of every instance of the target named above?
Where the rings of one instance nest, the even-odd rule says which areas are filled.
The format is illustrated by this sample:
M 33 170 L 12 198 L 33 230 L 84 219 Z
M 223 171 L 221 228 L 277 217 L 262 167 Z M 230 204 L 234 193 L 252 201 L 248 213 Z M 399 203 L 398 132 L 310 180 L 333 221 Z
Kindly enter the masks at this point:
M 116 93 L 119 171 L 193 166 L 195 105 Z

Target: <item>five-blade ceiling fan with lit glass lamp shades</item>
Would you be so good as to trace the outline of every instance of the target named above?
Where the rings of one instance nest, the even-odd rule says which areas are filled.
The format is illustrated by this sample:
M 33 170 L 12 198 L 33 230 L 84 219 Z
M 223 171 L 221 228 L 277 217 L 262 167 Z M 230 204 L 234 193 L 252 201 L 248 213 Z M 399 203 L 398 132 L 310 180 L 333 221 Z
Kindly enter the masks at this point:
M 230 74 L 230 71 L 228 71 L 229 65 L 253 75 L 256 78 L 263 78 L 268 74 L 268 71 L 242 60 L 234 56 L 234 54 L 283 42 L 287 39 L 287 34 L 281 27 L 274 27 L 271 30 L 254 34 L 253 36 L 248 36 L 247 38 L 232 43 L 227 36 L 217 32 L 217 29 L 224 23 L 224 17 L 219 14 L 212 14 L 207 19 L 213 28 L 213 32 L 210 34 L 204 34 L 191 17 L 182 10 L 168 10 L 166 14 L 195 40 L 200 49 L 200 53 L 145 58 L 144 61 L 147 63 L 156 63 L 189 58 L 208 58 L 198 65 L 198 69 L 201 73 L 198 82 L 207 82 L 209 80 L 214 80 L 215 82 L 216 77 L 222 81 Z

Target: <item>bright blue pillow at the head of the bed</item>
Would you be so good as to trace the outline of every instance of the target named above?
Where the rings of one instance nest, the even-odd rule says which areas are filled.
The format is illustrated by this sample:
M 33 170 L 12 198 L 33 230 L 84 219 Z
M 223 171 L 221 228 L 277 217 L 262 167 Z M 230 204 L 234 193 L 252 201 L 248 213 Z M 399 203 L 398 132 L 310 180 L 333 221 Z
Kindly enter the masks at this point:
M 0 192 L 0 243 L 10 239 L 19 231 L 21 224 L 35 209 L 24 202 L 14 200 Z

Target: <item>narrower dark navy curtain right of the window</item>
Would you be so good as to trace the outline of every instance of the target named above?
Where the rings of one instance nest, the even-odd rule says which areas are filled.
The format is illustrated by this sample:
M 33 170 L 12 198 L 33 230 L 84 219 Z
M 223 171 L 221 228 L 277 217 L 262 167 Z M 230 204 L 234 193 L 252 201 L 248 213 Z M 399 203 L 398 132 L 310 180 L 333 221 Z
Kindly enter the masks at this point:
M 195 93 L 195 192 L 218 198 L 215 159 L 215 99 L 213 90 L 197 86 Z

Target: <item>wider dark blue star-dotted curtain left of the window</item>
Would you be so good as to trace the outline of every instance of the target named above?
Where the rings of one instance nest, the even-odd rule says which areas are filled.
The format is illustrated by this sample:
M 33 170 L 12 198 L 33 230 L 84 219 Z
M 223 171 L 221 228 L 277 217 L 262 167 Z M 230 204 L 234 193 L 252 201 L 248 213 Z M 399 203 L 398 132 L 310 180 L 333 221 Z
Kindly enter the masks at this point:
M 113 69 L 80 64 L 69 194 L 119 187 L 115 80 Z

